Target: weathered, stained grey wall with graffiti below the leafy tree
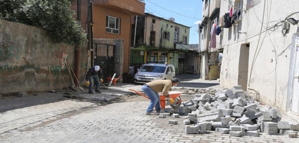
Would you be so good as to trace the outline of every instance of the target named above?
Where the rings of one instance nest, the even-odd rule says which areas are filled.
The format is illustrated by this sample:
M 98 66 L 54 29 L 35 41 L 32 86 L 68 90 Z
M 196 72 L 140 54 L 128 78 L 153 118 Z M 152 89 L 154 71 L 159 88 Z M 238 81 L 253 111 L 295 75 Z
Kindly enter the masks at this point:
M 71 86 L 65 65 L 68 60 L 74 66 L 74 53 L 74 46 L 52 43 L 49 33 L 42 28 L 0 20 L 0 94 L 52 90 L 48 67 L 54 90 L 60 88 L 58 70 Z M 86 48 L 81 47 L 79 82 L 85 69 Z M 61 84 L 66 87 L 62 79 Z

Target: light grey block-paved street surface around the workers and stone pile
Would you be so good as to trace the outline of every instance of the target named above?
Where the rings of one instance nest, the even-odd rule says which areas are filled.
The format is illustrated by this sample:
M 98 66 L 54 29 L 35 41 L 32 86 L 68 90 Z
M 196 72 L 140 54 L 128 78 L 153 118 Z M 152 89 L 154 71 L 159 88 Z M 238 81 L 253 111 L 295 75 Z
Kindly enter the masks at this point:
M 189 76 L 189 75 L 188 75 Z M 182 77 L 182 83 L 196 87 L 219 88 L 219 82 Z M 190 75 L 191 76 L 191 75 Z M 194 75 L 192 75 L 194 76 Z M 197 77 L 197 76 L 195 76 Z M 196 85 L 199 84 L 199 85 Z M 0 100 L 1 143 L 299 143 L 287 135 L 233 137 L 215 131 L 206 134 L 185 134 L 183 116 L 158 118 L 146 115 L 149 100 L 128 95 L 128 89 L 142 85 L 117 83 L 111 90 L 102 90 L 87 98 L 87 89 L 75 93 L 86 98 L 64 98 L 63 93 L 39 93 L 26 98 L 2 97 Z M 177 87 L 181 88 L 181 87 Z M 125 94 L 127 100 L 103 102 L 104 94 Z M 107 95 L 108 98 L 108 95 Z M 194 95 L 182 95 L 184 101 Z M 100 105 L 98 104 L 100 103 Z M 170 106 L 166 106 L 170 108 Z M 169 125 L 168 120 L 178 120 Z

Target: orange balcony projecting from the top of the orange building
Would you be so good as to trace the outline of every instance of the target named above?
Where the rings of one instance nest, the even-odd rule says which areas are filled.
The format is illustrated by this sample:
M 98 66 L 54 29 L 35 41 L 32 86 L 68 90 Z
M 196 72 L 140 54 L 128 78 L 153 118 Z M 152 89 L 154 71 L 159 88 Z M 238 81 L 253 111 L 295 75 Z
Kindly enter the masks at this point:
M 144 15 L 145 6 L 144 0 L 92 0 L 101 7 L 112 9 L 118 12 Z M 93 3 L 93 4 L 94 4 Z M 128 12 L 128 13 L 127 13 Z

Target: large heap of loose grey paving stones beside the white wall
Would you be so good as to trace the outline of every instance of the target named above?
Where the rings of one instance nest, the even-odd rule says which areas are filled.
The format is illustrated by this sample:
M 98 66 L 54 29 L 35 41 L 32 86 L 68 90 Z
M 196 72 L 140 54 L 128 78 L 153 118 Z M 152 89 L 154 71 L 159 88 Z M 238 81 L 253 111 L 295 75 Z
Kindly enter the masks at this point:
M 195 96 L 193 100 L 183 102 L 178 111 L 166 111 L 176 113 L 172 113 L 175 118 L 185 116 L 183 124 L 186 125 L 186 134 L 215 130 L 235 137 L 259 137 L 260 133 L 285 134 L 290 138 L 298 136 L 298 123 L 281 121 L 282 115 L 278 109 L 262 107 L 240 85 L 221 91 L 210 88 L 206 93 Z M 175 124 L 171 120 L 169 123 Z

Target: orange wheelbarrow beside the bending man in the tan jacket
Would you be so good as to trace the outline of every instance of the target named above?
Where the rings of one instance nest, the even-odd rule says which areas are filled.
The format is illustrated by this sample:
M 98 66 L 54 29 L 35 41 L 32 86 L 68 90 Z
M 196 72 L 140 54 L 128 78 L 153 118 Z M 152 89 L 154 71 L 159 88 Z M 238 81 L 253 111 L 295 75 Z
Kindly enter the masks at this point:
M 133 89 L 129 89 L 129 90 L 131 90 L 131 91 L 135 91 L 135 92 L 138 93 L 139 95 L 141 95 L 141 96 L 146 97 L 146 98 L 149 99 L 148 96 L 146 96 L 146 95 L 144 95 L 144 94 L 141 93 L 142 91 L 136 91 L 136 90 L 133 90 Z M 169 96 L 170 96 L 172 99 L 176 99 L 176 100 L 177 100 L 175 103 L 170 104 L 170 106 L 171 106 L 172 108 L 179 108 L 179 107 L 181 106 L 181 102 L 183 102 L 183 101 L 182 101 L 180 95 L 181 95 L 182 93 L 183 93 L 183 92 L 179 92 L 179 91 L 168 91 Z M 162 92 L 159 92 L 159 95 L 160 95 L 160 105 L 161 105 L 161 108 L 165 109 L 165 105 L 166 105 L 166 101 L 165 101 L 165 99 L 166 99 L 166 97 L 162 94 Z M 179 97 L 179 98 L 177 98 L 177 97 Z

